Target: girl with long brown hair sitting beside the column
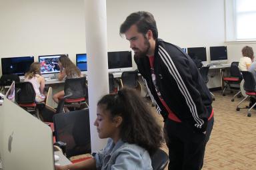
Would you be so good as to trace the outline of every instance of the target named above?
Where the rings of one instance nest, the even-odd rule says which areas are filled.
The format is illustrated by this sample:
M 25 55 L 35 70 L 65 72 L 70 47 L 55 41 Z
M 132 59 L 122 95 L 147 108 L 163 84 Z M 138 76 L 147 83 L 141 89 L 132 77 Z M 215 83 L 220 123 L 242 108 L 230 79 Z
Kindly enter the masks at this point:
M 63 80 L 64 78 L 78 78 L 82 76 L 79 68 L 77 68 L 77 66 L 75 66 L 75 64 L 65 54 L 59 57 L 59 69 L 59 81 Z M 59 98 L 63 98 L 64 95 L 64 90 L 61 90 L 53 95 L 53 100 L 56 103 L 59 103 Z

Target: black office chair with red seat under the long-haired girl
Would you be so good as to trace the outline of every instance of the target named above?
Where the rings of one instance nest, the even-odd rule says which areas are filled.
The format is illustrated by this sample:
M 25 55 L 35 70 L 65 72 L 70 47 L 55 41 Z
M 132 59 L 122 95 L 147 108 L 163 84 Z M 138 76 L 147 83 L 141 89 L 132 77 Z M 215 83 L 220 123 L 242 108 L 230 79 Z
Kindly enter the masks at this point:
M 64 84 L 65 96 L 59 100 L 56 113 L 63 112 L 64 106 L 67 108 L 81 109 L 82 106 L 88 107 L 87 97 L 88 88 L 86 84 L 86 77 L 67 78 Z

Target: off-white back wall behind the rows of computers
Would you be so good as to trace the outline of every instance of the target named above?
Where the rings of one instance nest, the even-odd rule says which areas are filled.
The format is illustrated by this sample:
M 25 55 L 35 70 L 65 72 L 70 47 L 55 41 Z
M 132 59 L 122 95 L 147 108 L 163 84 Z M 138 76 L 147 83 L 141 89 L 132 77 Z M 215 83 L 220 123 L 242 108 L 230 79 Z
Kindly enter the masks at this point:
M 41 54 L 68 53 L 75 62 L 75 54 L 86 52 L 83 3 L 1 0 L 0 57 L 34 55 L 38 60 Z M 245 45 L 225 43 L 224 0 L 107 0 L 109 51 L 129 50 L 129 43 L 119 36 L 119 26 L 134 11 L 153 13 L 159 38 L 165 41 L 181 47 L 206 46 L 208 62 L 209 46 L 227 45 L 231 62 L 240 58 Z

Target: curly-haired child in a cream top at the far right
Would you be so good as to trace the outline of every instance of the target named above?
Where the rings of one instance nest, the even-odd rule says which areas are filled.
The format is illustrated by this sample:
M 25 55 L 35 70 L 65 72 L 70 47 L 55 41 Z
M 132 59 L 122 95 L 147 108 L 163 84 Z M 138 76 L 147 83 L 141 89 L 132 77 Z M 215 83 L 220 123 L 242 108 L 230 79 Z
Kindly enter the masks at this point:
M 242 49 L 243 57 L 239 59 L 238 68 L 241 71 L 247 71 L 254 60 L 253 48 L 251 46 L 245 46 Z

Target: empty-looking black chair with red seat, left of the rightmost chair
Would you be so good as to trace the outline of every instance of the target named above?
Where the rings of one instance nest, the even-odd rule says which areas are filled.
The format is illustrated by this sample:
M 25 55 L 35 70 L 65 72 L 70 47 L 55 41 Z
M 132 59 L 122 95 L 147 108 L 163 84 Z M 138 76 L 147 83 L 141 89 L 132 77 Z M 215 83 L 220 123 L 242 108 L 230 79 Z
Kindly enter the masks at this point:
M 241 71 L 238 68 L 239 62 L 232 62 L 230 66 L 230 76 L 229 77 L 223 77 L 223 81 L 226 83 L 222 96 L 225 96 L 225 90 L 229 87 L 231 93 L 233 93 L 233 90 L 231 89 L 231 84 L 240 84 L 241 80 L 243 80 L 243 76 L 241 74 Z M 241 90 L 235 94 L 235 96 L 239 95 L 241 93 Z M 231 99 L 233 102 L 235 100 L 235 96 Z

